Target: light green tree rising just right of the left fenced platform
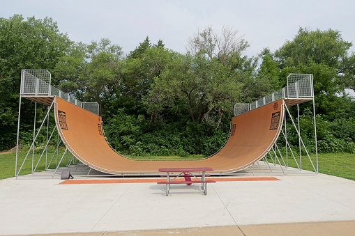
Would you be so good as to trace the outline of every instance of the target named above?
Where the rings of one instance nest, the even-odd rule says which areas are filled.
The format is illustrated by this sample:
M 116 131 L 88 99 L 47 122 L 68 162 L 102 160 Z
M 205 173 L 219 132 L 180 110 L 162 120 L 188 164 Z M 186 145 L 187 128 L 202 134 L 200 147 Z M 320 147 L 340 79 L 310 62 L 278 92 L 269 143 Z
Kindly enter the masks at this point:
M 83 102 L 98 102 L 105 115 L 121 85 L 123 52 L 107 38 L 91 44 L 76 43 L 54 68 L 54 77 L 66 93 Z

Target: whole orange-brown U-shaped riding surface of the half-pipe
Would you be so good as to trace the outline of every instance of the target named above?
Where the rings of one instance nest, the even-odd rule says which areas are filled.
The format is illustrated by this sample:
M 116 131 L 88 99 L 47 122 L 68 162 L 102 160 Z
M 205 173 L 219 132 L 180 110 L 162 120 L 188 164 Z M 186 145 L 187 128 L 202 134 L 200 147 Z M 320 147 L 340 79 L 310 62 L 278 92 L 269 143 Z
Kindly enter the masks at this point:
M 278 139 L 283 120 L 282 100 L 232 118 L 225 146 L 206 159 L 138 161 L 116 153 L 103 135 L 102 119 L 90 111 L 55 98 L 55 117 L 61 139 L 82 163 L 109 174 L 151 174 L 163 167 L 209 166 L 215 173 L 240 171 L 262 159 Z

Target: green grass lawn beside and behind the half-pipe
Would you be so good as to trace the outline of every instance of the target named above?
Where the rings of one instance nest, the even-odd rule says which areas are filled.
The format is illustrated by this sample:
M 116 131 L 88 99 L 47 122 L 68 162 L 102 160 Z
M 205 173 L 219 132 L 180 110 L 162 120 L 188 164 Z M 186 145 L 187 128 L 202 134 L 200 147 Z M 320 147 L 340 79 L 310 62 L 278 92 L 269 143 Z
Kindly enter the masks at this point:
M 57 160 L 61 159 L 61 155 L 63 153 L 63 150 L 59 152 L 59 155 L 57 153 L 54 153 L 54 150 L 49 150 L 48 151 L 48 161 L 50 162 L 50 159 L 52 159 L 52 164 L 50 168 L 55 168 Z M 17 163 L 17 171 L 20 168 L 20 165 L 23 162 L 23 159 L 25 155 L 27 154 L 26 151 L 20 151 L 19 153 L 19 161 Z M 35 166 L 38 162 L 38 159 L 40 157 L 41 152 L 35 153 L 34 155 L 34 160 L 35 160 Z M 155 157 L 155 156 L 150 156 L 150 157 L 130 157 L 132 159 L 202 159 L 202 155 L 192 155 L 188 157 Z M 16 159 L 16 153 L 15 152 L 10 152 L 6 154 L 0 154 L 0 180 L 6 179 L 6 178 L 11 178 L 15 176 L 15 159 Z M 22 168 L 22 171 L 20 175 L 25 175 L 31 173 L 32 169 L 32 152 L 30 153 L 29 157 L 27 157 L 27 161 L 24 164 L 24 167 Z M 68 162 L 69 157 L 67 158 L 66 156 L 64 157 L 62 161 L 62 166 L 65 165 L 66 162 Z M 311 159 L 313 160 L 313 163 L 315 163 L 315 155 L 311 155 Z M 291 167 L 297 167 L 296 162 L 294 162 L 294 159 L 289 157 L 288 161 L 289 166 Z M 354 171 L 354 166 L 355 166 L 355 154 L 349 154 L 349 153 L 327 153 L 327 154 L 319 154 L 318 155 L 318 164 L 319 164 L 319 173 L 324 173 L 327 175 L 334 175 L 338 176 L 341 178 L 346 178 L 349 180 L 355 180 L 355 171 Z M 314 171 L 312 164 L 310 164 L 310 161 L 308 160 L 308 157 L 302 157 L 302 169 L 308 170 L 308 171 Z M 40 162 L 38 164 L 38 167 L 36 168 L 36 172 L 38 171 L 44 171 L 45 170 L 45 156 L 43 156 L 40 159 Z

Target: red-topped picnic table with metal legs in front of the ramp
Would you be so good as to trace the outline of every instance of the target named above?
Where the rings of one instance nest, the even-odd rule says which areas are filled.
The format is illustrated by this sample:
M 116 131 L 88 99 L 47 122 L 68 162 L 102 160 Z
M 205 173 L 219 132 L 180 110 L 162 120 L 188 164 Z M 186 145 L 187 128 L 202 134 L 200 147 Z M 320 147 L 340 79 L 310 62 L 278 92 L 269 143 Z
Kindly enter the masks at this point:
M 158 171 L 166 173 L 166 175 L 161 176 L 166 177 L 167 181 L 160 181 L 157 183 L 166 184 L 166 196 L 169 195 L 170 184 L 201 184 L 204 195 L 207 195 L 207 184 L 216 182 L 213 180 L 206 180 L 206 176 L 209 176 L 206 172 L 213 171 L 213 168 L 211 167 L 159 168 Z M 177 179 L 179 177 L 183 177 L 183 180 Z M 193 180 L 191 180 L 191 178 Z

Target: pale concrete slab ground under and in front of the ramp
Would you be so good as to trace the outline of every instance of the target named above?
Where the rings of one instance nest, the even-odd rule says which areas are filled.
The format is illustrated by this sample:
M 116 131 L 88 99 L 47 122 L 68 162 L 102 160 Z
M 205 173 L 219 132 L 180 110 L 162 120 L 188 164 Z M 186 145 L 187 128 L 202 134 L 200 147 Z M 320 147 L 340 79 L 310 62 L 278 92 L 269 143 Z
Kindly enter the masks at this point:
M 209 184 L 206 196 L 200 184 L 172 185 L 165 196 L 156 182 L 59 184 L 48 173 L 0 180 L 0 235 L 355 235 L 354 181 L 269 175 L 278 180 Z

